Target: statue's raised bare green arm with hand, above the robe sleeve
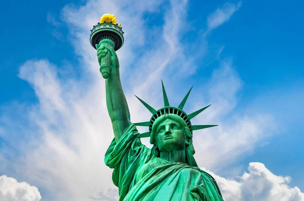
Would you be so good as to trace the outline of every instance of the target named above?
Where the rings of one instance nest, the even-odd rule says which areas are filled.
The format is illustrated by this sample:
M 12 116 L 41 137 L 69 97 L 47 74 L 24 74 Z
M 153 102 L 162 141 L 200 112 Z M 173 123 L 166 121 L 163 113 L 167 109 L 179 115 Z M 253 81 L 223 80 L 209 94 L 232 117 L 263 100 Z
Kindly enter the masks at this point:
M 111 55 L 111 72 L 105 79 L 106 106 L 112 122 L 116 141 L 124 134 L 131 125 L 130 112 L 127 100 L 122 88 L 119 61 L 116 52 L 109 45 L 101 45 L 97 49 L 98 62 L 106 54 Z

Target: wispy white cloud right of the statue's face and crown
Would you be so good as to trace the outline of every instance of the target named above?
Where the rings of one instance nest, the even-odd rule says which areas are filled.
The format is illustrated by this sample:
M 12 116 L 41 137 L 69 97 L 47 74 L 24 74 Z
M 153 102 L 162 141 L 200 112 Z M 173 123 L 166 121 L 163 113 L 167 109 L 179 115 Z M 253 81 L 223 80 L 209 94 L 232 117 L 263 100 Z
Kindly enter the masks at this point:
M 230 59 L 222 60 L 211 78 L 196 93 L 191 111 L 212 104 L 192 120 L 193 125 L 218 124 L 218 127 L 194 131 L 195 155 L 199 164 L 208 169 L 223 170 L 220 164 L 233 163 L 240 155 L 252 150 L 262 139 L 276 131 L 272 115 L 267 113 L 235 113 L 242 81 Z M 191 97 L 190 97 L 191 98 Z

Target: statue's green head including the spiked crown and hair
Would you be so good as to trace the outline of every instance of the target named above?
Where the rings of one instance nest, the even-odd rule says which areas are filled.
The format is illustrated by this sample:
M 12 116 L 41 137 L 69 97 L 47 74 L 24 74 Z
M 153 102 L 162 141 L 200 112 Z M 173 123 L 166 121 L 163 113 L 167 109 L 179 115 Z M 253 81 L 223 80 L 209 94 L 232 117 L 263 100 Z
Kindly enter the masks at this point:
M 178 107 L 169 105 L 168 97 L 163 86 L 163 96 L 165 107 L 156 110 L 146 102 L 138 98 L 138 100 L 153 114 L 148 122 L 134 123 L 135 126 L 147 126 L 149 132 L 140 134 L 140 137 L 150 137 L 150 143 L 153 144 L 153 152 L 159 156 L 160 152 L 172 150 L 185 150 L 186 163 L 190 166 L 197 167 L 197 163 L 193 157 L 195 153 L 192 144 L 192 132 L 195 130 L 206 129 L 217 125 L 192 125 L 191 119 L 204 111 L 210 105 L 201 108 L 191 114 L 184 112 L 183 106 L 192 90 L 188 91 Z

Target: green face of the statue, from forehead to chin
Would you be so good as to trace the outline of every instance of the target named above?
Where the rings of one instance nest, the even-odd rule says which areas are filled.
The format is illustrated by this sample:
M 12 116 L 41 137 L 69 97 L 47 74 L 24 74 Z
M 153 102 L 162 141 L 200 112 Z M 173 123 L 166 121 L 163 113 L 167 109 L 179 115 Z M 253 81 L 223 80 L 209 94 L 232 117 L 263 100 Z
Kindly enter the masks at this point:
M 160 151 L 184 149 L 186 139 L 179 123 L 167 118 L 158 126 L 156 132 L 156 145 Z

